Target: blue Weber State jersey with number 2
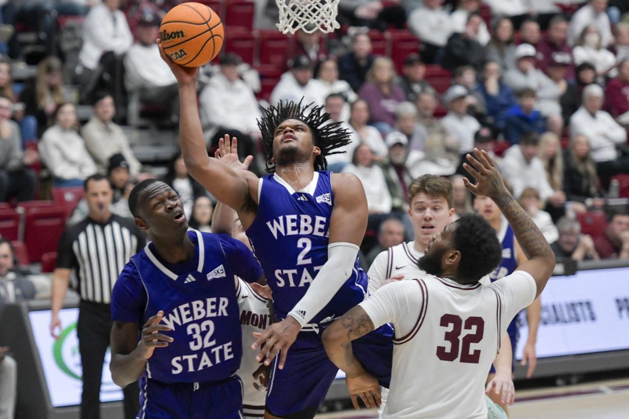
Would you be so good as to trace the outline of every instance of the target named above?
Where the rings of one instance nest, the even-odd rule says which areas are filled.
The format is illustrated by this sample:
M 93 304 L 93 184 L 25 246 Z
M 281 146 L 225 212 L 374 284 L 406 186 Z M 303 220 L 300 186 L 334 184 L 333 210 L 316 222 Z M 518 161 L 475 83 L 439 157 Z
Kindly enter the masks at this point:
M 295 192 L 277 174 L 260 179 L 258 212 L 247 236 L 264 268 L 277 315 L 285 318 L 301 300 L 328 260 L 334 195 L 329 171 L 315 171 L 312 182 Z M 329 320 L 364 299 L 367 274 L 358 258 L 336 295 L 312 320 Z

